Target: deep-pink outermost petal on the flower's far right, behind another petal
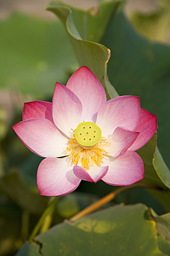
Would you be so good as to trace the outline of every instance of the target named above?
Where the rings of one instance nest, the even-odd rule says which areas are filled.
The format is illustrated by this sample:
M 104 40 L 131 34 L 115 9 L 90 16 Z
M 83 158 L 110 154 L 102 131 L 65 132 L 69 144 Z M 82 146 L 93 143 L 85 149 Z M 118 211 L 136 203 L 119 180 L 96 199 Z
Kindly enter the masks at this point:
M 143 147 L 155 134 L 157 129 L 157 116 L 153 115 L 145 109 L 141 109 L 140 120 L 134 131 L 140 132 L 134 144 L 129 147 L 129 150 L 136 151 Z

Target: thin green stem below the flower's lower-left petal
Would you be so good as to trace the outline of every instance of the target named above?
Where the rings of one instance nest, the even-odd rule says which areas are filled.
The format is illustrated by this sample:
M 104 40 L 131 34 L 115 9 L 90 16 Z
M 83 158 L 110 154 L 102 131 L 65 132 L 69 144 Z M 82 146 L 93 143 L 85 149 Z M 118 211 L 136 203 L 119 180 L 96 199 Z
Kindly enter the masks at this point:
M 56 201 L 58 201 L 58 200 L 59 200 L 59 196 L 50 197 L 50 201 L 49 201 L 49 204 L 47 205 L 47 208 L 43 212 L 43 215 L 39 219 L 38 223 L 36 223 L 36 226 L 34 227 L 34 230 L 32 231 L 32 233 L 30 235 L 30 238 L 29 238 L 30 243 L 32 242 L 34 237 L 37 235 L 37 233 L 39 232 L 39 230 L 41 229 L 42 226 L 43 226 L 43 230 L 44 230 L 44 228 L 45 228 L 45 230 L 47 230 L 47 226 L 49 228 L 49 222 L 48 222 L 49 217 L 51 218 L 52 212 L 56 205 Z

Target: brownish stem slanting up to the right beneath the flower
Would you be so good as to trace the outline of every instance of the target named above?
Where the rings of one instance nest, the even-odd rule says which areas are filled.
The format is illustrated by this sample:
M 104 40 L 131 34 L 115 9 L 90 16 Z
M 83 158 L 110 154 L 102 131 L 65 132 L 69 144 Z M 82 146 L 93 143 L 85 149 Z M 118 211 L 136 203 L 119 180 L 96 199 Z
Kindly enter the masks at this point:
M 126 191 L 131 190 L 133 188 L 153 188 L 153 189 L 161 189 L 156 185 L 147 184 L 147 183 L 137 183 L 133 185 L 129 185 L 126 187 L 118 188 L 117 190 L 107 194 L 107 196 L 104 196 L 102 199 L 99 199 L 95 203 L 92 203 L 92 205 L 87 206 L 87 208 L 83 209 L 81 212 L 78 212 L 76 215 L 74 215 L 72 218 L 69 219 L 69 221 L 76 221 L 76 219 L 79 219 L 81 217 L 86 216 L 87 214 L 94 212 L 94 210 L 97 210 L 101 206 L 105 205 L 106 203 L 109 203 L 112 199 L 114 199 L 118 194 Z

